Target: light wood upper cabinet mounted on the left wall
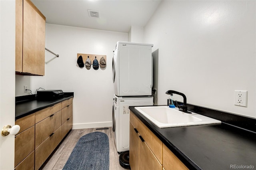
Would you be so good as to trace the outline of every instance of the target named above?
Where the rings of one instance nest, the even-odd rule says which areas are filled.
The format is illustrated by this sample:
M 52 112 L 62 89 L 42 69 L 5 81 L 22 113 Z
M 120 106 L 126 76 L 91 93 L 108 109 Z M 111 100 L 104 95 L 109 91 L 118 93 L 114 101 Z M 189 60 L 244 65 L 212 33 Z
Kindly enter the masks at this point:
M 44 75 L 45 16 L 30 0 L 16 0 L 16 73 Z

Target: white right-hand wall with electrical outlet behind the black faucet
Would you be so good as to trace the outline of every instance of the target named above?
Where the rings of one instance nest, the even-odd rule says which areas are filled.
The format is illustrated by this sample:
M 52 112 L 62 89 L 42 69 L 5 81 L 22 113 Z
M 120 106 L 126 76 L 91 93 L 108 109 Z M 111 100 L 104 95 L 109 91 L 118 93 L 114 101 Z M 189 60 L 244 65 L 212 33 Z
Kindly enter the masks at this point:
M 255 1 L 162 1 L 144 27 L 144 42 L 159 49 L 158 105 L 173 89 L 188 103 L 256 117 L 255 9 Z M 248 107 L 234 105 L 234 90 L 248 91 Z

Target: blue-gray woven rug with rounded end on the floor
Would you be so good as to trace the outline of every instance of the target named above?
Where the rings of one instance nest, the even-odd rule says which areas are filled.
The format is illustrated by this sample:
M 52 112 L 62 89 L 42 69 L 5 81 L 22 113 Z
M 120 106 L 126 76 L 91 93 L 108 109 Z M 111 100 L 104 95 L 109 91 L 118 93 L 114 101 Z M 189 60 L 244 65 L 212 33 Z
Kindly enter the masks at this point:
M 109 170 L 109 141 L 103 132 L 82 136 L 63 170 Z

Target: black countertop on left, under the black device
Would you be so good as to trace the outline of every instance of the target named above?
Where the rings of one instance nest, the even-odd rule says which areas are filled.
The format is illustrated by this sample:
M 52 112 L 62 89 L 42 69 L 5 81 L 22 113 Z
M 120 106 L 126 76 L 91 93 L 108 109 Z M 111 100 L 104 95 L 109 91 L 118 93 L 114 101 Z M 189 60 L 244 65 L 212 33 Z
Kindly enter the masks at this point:
M 32 96 L 32 95 L 31 95 Z M 15 105 L 15 120 L 45 109 L 46 107 L 53 106 L 57 103 L 65 101 L 74 97 L 74 93 L 66 93 L 64 97 L 60 99 L 55 99 L 51 101 L 40 101 L 33 99 L 34 96 L 30 97 L 30 99 L 26 99 L 24 101 L 16 101 Z

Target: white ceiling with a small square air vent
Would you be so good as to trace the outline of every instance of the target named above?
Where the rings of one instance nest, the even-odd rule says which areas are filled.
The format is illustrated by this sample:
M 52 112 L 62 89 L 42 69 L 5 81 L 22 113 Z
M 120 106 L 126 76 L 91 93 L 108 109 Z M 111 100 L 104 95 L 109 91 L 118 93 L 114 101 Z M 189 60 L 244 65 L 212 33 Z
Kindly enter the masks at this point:
M 46 23 L 128 33 L 144 27 L 161 0 L 32 0 Z M 88 10 L 100 18 L 89 17 Z

